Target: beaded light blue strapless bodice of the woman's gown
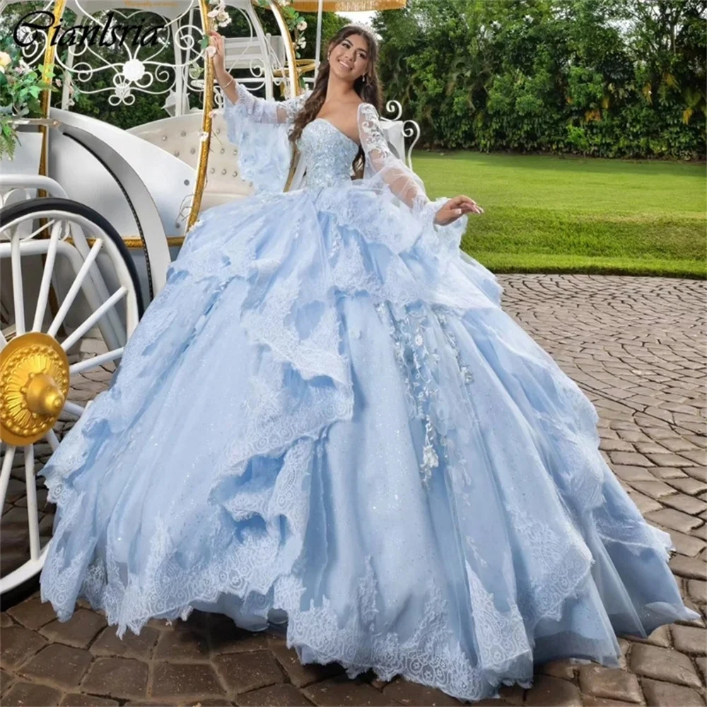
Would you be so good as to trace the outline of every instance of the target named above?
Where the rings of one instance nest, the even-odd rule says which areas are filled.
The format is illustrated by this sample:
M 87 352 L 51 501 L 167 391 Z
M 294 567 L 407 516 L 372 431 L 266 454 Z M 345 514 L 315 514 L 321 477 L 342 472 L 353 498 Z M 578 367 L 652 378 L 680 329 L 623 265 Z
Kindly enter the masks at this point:
M 306 161 L 308 189 L 351 181 L 351 163 L 358 145 L 328 120 L 316 118 L 308 123 L 297 146 Z

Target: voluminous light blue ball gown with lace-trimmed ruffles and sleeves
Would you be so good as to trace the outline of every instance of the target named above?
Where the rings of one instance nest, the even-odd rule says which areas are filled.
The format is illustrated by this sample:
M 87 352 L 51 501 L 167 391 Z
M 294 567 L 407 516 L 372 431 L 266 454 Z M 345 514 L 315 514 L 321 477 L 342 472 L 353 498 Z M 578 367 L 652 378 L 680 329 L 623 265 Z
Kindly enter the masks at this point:
M 469 700 L 616 633 L 693 619 L 598 449 L 597 413 L 463 257 L 440 203 L 358 110 L 358 145 L 302 98 L 226 103 L 246 199 L 209 209 L 44 469 L 42 599 L 119 635 L 192 609 L 303 662 Z

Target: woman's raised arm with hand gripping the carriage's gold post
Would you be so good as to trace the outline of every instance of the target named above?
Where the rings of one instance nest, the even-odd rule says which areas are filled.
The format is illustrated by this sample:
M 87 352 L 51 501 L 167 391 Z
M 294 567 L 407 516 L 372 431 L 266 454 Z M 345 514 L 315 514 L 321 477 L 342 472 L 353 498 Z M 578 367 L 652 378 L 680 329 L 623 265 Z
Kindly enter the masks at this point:
M 304 104 L 307 95 L 282 101 L 265 100 L 252 95 L 245 87 L 240 86 L 226 69 L 226 49 L 223 36 L 218 32 L 209 33 L 209 52 L 214 57 L 214 74 L 221 86 L 223 95 L 230 105 L 242 103 L 248 119 L 259 123 L 289 123 L 297 115 Z M 227 105 L 228 105 L 227 103 Z

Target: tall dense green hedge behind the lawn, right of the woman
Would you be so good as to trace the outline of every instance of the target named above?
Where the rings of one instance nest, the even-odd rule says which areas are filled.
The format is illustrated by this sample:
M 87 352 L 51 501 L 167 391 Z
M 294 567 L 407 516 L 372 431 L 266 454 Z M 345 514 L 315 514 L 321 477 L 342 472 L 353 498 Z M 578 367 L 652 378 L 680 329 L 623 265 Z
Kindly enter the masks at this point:
M 695 159 L 706 17 L 707 0 L 409 0 L 375 29 L 423 145 Z

